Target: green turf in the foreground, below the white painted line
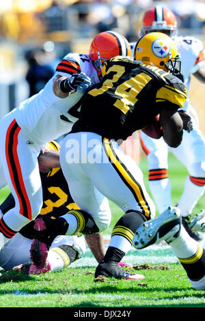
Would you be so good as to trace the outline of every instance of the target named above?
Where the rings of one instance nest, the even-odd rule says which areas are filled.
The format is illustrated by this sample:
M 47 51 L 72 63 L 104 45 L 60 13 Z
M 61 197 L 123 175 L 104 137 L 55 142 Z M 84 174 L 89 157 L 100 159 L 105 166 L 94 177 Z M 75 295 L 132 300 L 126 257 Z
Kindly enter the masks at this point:
M 180 264 L 133 270 L 146 279 L 94 281 L 94 268 L 46 275 L 1 276 L 0 307 L 205 307 L 205 294 L 191 288 Z

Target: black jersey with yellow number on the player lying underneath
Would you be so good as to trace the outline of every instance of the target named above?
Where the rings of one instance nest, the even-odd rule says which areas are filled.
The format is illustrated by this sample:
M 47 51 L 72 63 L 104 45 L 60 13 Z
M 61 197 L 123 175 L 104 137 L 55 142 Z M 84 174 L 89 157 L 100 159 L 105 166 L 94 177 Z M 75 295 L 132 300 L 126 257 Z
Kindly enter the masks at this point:
M 42 215 L 55 219 L 68 213 L 69 210 L 77 210 L 79 207 L 74 203 L 68 184 L 61 168 L 53 168 L 49 173 L 40 173 L 43 191 L 43 206 L 38 218 Z M 20 234 L 26 238 L 33 238 L 33 221 L 20 229 Z

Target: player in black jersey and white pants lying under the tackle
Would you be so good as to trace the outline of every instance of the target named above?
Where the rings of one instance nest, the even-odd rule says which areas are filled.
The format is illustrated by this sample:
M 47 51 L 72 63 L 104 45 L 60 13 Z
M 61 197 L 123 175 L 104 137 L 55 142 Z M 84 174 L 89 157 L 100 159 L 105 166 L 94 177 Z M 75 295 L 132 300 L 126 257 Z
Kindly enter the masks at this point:
M 38 156 L 43 191 L 43 206 L 38 217 L 55 219 L 66 214 L 68 210 L 79 210 L 70 196 L 68 184 L 61 171 L 59 150 L 59 143 L 51 141 L 46 144 L 44 153 Z M 14 197 L 10 193 L 0 206 L 1 214 L 5 214 L 8 208 L 14 208 L 14 206 Z M 25 225 L 1 249 L 0 266 L 4 270 L 14 268 L 32 275 L 67 268 L 85 253 L 85 240 L 97 262 L 100 262 L 105 255 L 102 234 L 85 235 L 85 240 L 82 236 L 57 236 L 51 245 L 45 266 L 42 269 L 36 268 L 30 260 L 29 251 L 33 240 L 33 225 L 34 221 Z M 120 266 L 124 265 L 128 264 L 120 262 Z

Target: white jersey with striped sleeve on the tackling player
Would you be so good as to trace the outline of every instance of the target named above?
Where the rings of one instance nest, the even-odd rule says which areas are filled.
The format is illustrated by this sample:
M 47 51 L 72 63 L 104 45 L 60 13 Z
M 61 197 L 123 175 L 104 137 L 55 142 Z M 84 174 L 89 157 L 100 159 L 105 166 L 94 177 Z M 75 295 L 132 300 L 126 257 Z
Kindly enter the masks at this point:
M 88 55 L 71 53 L 58 64 L 53 78 L 38 94 L 21 102 L 14 109 L 14 117 L 22 132 L 33 142 L 44 144 L 70 131 L 70 122 L 78 119 L 78 103 L 85 90 L 77 89 L 67 98 L 58 98 L 53 93 L 53 80 L 59 74 L 70 77 L 76 72 L 85 72 L 92 83 L 98 83 L 97 72 Z

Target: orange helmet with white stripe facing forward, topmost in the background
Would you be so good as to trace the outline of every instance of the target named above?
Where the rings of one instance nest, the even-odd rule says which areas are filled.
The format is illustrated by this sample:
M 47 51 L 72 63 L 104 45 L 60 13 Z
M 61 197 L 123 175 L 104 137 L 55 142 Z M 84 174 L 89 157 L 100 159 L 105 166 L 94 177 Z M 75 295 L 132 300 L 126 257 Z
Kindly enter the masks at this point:
M 171 10 L 156 5 L 143 15 L 141 36 L 154 31 L 166 33 L 172 39 L 176 37 L 178 33 L 177 21 Z

